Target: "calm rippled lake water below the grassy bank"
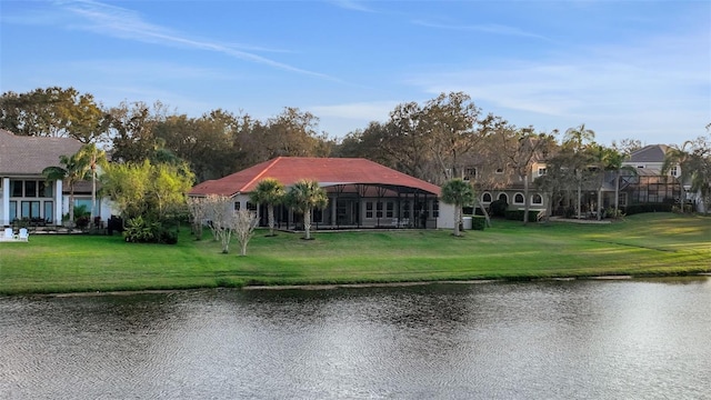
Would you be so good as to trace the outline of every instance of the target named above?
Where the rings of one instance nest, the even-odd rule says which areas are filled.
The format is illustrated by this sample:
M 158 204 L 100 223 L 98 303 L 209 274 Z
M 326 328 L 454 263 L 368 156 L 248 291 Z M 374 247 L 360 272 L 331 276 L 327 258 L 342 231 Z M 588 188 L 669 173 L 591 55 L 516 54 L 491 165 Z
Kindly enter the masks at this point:
M 2 399 L 711 399 L 711 280 L 0 298 Z

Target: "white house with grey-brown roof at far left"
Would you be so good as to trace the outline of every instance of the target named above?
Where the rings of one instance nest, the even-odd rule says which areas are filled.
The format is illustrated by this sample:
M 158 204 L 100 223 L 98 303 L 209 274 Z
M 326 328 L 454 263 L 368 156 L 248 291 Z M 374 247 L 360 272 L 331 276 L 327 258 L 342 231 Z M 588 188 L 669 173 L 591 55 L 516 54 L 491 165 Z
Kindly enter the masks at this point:
M 79 151 L 82 143 L 70 138 L 16 136 L 0 129 L 0 226 L 28 219 L 61 224 L 69 212 L 69 188 L 61 181 L 48 182 L 42 176 L 47 167 L 60 167 L 59 157 Z M 74 187 L 74 203 L 91 204 L 91 182 Z M 94 214 L 110 217 L 106 201 Z

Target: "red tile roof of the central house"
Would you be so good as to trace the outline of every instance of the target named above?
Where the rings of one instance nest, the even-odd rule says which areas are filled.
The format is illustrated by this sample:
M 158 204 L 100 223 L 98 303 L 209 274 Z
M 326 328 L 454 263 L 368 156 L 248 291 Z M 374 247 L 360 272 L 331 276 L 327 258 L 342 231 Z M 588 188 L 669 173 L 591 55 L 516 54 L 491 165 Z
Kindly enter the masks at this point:
M 273 178 L 289 187 L 300 179 L 311 179 L 321 186 L 368 183 L 419 189 L 435 196 L 440 188 L 405 173 L 360 158 L 279 157 L 221 179 L 197 184 L 193 196 L 234 196 L 249 193 L 264 178 Z

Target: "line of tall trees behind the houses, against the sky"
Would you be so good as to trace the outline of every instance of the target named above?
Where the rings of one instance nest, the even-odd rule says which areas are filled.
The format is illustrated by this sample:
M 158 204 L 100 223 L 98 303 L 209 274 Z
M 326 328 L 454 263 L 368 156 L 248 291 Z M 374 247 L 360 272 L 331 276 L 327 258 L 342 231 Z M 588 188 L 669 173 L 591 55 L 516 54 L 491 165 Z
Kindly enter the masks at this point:
M 580 193 L 583 186 L 593 186 L 600 193 L 603 173 L 620 173 L 624 158 L 642 146 L 633 139 L 602 146 L 584 123 L 562 133 L 515 127 L 500 116 L 484 113 L 463 92 L 398 104 L 388 120 L 372 121 L 340 139 L 319 131 L 318 123 L 312 113 L 289 107 L 266 120 L 222 109 L 188 117 L 171 112 L 161 102 L 123 101 L 106 107 L 73 88 L 10 91 L 0 97 L 2 129 L 74 138 L 104 149 L 118 163 L 184 164 L 180 168 L 190 171 L 193 183 L 280 156 L 362 157 L 438 186 L 475 174 L 471 180 L 474 189 L 523 181 L 527 198 L 530 184 L 560 198 Z M 710 154 L 711 137 L 699 137 L 672 144 L 667 167 L 680 164 L 682 179 L 692 182 L 691 190 L 708 198 Z M 547 160 L 547 174 L 529 182 L 532 163 L 541 158 Z

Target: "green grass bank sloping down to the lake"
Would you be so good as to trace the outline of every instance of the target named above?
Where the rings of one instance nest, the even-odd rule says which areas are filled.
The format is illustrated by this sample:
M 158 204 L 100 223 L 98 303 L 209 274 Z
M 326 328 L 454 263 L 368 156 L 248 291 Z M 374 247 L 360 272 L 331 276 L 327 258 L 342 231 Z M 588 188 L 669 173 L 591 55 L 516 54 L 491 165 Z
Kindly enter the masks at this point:
M 611 224 L 494 221 L 485 231 L 319 232 L 266 237 L 248 257 L 183 230 L 177 246 L 118 236 L 0 242 L 0 293 L 711 272 L 711 218 L 637 214 Z

